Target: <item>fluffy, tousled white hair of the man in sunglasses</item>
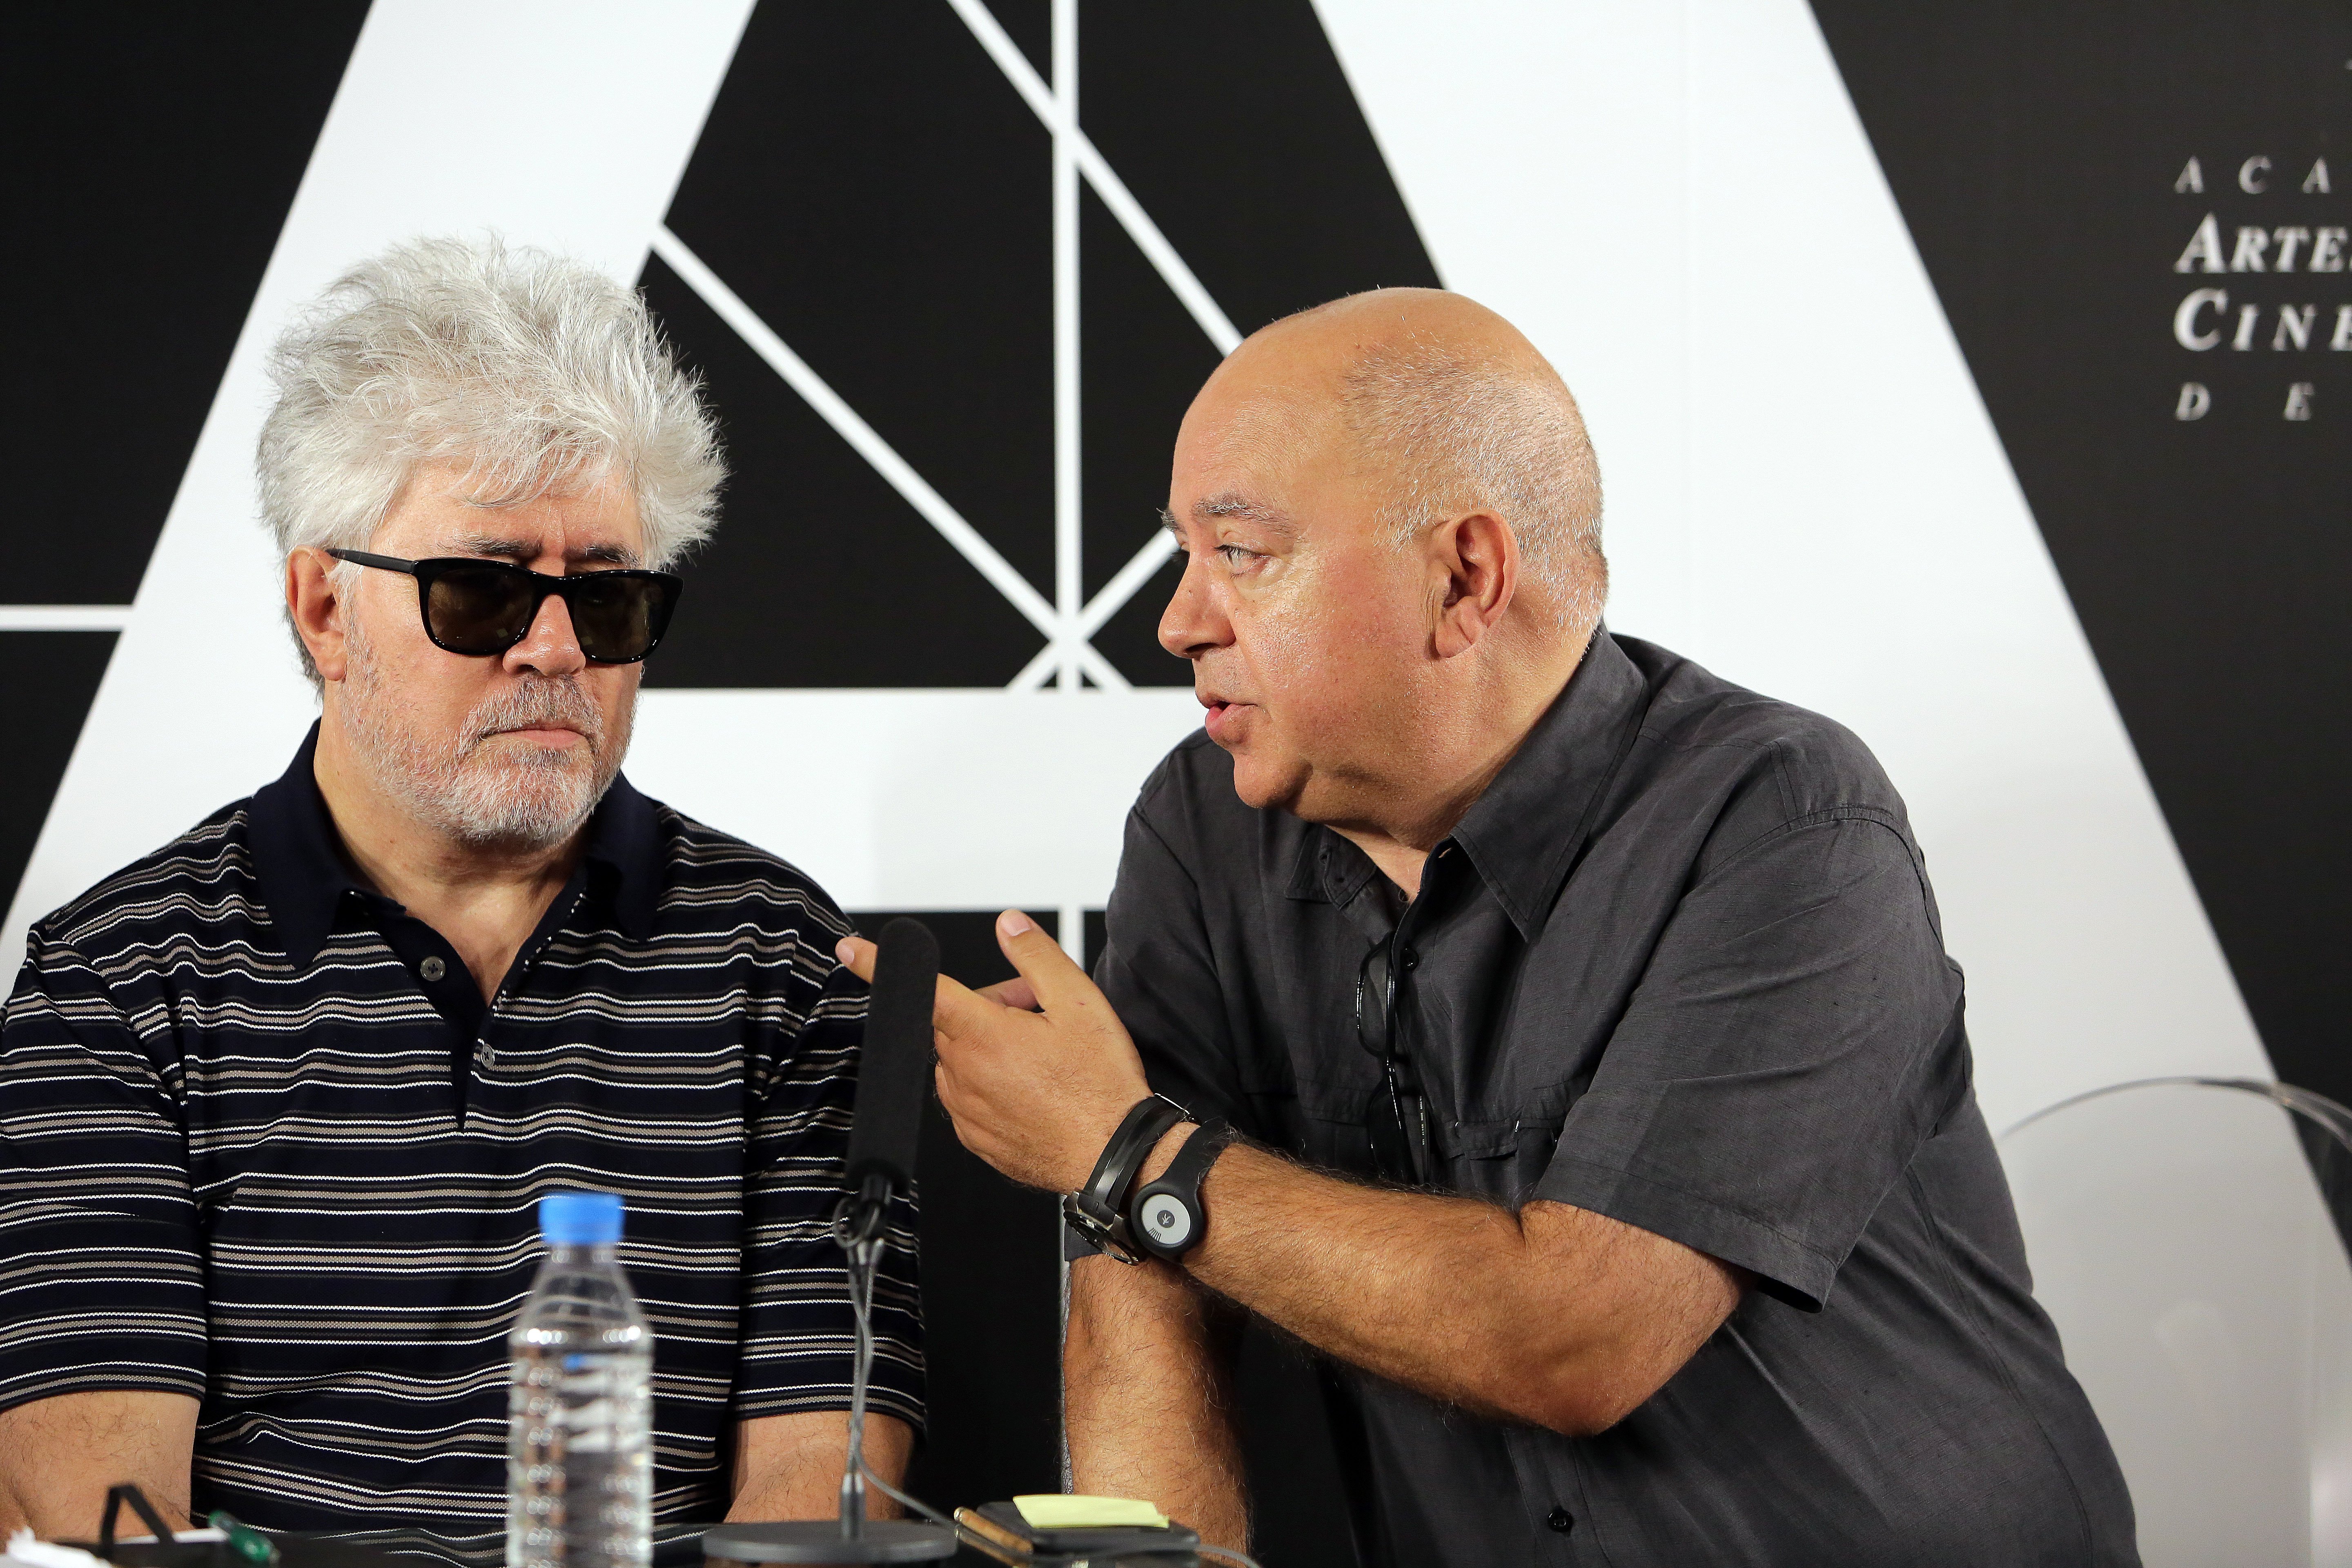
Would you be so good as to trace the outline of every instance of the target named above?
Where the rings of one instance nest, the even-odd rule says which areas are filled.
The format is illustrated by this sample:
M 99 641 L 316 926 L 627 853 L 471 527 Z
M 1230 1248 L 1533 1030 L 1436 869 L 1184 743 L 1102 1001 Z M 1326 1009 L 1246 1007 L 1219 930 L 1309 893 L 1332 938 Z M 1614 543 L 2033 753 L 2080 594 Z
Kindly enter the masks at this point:
M 494 235 L 350 268 L 278 339 L 270 378 L 256 468 L 280 557 L 365 550 L 419 463 L 466 463 L 492 508 L 619 477 L 656 569 L 717 515 L 717 428 L 644 301 Z

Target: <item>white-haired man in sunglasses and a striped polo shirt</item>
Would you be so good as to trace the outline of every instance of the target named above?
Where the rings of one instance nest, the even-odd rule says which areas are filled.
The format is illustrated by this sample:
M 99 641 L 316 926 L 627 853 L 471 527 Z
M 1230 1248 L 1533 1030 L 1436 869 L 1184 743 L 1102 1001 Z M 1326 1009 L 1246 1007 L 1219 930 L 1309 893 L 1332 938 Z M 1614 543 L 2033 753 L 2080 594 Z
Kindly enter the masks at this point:
M 506 1333 L 536 1199 L 576 1187 L 628 1211 L 656 1540 L 830 1514 L 849 924 L 621 778 L 666 569 L 715 515 L 710 416 L 633 292 L 499 242 L 355 268 L 273 374 L 261 501 L 320 719 L 31 933 L 0 1530 L 92 1535 L 136 1481 L 174 1516 L 501 1556 Z M 884 1474 L 922 1418 L 894 1267 Z

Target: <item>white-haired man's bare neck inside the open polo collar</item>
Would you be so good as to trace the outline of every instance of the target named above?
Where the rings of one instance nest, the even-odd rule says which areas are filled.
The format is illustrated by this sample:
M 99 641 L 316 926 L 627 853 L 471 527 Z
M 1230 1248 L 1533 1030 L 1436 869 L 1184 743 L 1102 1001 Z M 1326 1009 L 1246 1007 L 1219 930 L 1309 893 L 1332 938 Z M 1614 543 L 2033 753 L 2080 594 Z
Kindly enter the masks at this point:
M 466 959 L 482 997 L 494 997 L 522 943 L 572 879 L 588 830 L 527 851 L 456 842 L 419 823 L 376 783 L 334 715 L 320 724 L 313 776 L 360 879 L 440 931 Z

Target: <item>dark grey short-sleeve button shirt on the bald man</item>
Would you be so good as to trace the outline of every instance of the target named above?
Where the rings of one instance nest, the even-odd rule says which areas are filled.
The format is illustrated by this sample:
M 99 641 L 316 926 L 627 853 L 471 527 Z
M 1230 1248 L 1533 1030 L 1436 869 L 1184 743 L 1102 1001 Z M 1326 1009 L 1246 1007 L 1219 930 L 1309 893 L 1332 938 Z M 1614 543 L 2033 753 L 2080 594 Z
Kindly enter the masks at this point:
M 1369 1175 L 1374 943 L 1435 1185 L 1576 1204 L 1757 1288 L 1590 1439 L 1338 1368 L 1367 1561 L 2136 1561 L 1860 741 L 1602 632 L 1406 905 L 1338 835 L 1244 806 L 1195 736 L 1129 818 L 1096 978 L 1155 1088 Z

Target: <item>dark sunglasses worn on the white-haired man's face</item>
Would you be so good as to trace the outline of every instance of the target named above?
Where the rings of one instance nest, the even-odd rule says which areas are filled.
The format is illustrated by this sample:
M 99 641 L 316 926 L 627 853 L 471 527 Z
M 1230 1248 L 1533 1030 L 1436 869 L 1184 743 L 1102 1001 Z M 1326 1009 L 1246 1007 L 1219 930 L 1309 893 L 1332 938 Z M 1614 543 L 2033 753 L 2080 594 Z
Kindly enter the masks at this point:
M 668 571 L 576 571 L 546 576 L 529 567 L 437 555 L 405 562 L 397 555 L 327 550 L 339 562 L 407 571 L 416 578 L 416 609 L 433 646 L 466 658 L 492 658 L 532 632 L 539 607 L 557 595 L 572 611 L 581 654 L 600 665 L 633 665 L 661 646 L 684 583 Z

